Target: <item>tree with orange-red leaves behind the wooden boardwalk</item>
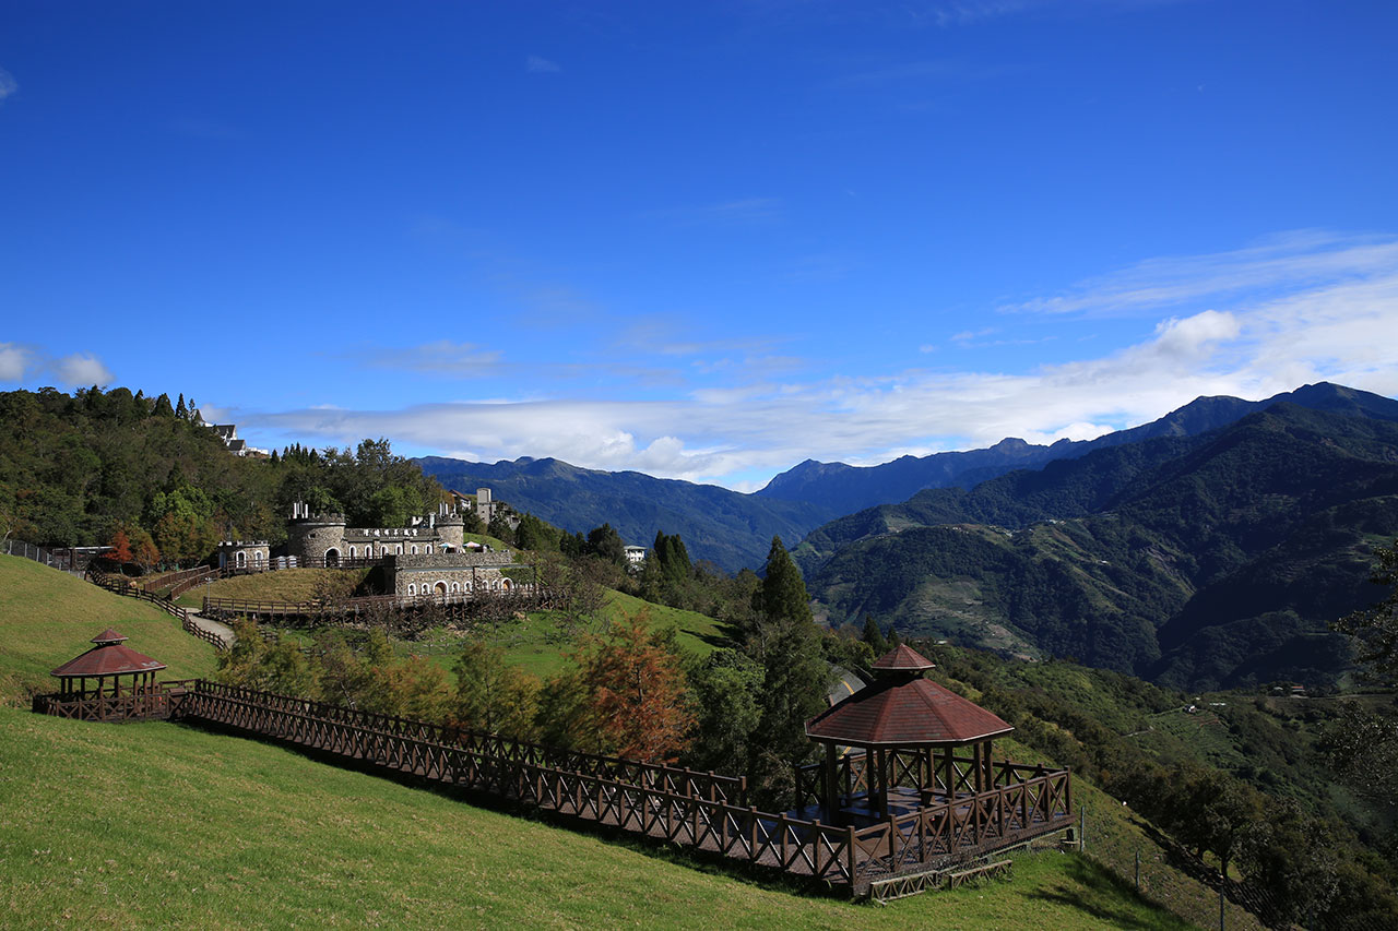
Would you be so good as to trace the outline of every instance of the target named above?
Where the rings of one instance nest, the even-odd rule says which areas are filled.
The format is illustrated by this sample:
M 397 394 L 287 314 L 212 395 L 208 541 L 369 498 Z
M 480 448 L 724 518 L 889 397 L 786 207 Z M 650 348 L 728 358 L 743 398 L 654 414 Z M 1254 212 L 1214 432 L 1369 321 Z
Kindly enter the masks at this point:
M 650 612 L 614 622 L 579 657 L 589 710 L 603 745 L 618 756 L 674 762 L 695 726 L 674 630 L 651 630 Z

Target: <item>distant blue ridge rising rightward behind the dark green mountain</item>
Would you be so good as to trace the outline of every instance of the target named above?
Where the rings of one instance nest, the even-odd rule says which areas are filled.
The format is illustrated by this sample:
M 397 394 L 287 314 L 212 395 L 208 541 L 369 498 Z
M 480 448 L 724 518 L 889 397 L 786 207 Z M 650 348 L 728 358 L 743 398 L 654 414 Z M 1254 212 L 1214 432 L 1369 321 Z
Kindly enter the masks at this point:
M 977 482 L 1016 468 L 1040 468 L 1062 459 L 1078 459 L 1099 449 L 1141 443 L 1165 436 L 1197 436 L 1233 424 L 1255 411 L 1290 403 L 1317 411 L 1398 419 L 1398 401 L 1338 384 L 1307 384 L 1262 401 L 1236 397 L 1201 397 L 1158 421 L 1117 431 L 1092 440 L 1058 440 L 1036 446 L 1005 439 L 988 449 L 903 456 L 879 466 L 846 466 L 807 460 L 774 477 L 755 492 L 773 500 L 807 502 L 836 513 L 853 513 L 911 498 L 924 488 L 972 488 Z

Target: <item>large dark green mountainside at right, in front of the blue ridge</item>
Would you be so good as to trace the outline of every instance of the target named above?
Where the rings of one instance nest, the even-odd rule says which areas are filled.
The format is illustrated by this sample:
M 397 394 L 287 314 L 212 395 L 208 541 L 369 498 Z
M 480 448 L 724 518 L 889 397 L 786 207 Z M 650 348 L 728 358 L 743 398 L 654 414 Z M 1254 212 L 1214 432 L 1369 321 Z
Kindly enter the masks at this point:
M 794 554 L 830 623 L 1172 685 L 1334 682 L 1325 623 L 1373 597 L 1369 548 L 1398 533 L 1398 424 L 1278 404 L 1155 439 L 934 489 L 812 533 Z

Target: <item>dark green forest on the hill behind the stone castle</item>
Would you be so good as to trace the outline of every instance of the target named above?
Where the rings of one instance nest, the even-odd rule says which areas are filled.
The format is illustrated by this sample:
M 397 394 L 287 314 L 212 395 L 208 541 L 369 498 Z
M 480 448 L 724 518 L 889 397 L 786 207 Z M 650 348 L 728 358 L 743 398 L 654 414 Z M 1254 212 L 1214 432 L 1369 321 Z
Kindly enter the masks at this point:
M 442 489 L 387 440 L 350 449 L 231 454 L 179 396 L 117 387 L 0 393 L 0 530 L 56 547 L 122 531 L 148 565 L 189 563 L 219 540 L 285 540 L 291 503 L 396 526 Z

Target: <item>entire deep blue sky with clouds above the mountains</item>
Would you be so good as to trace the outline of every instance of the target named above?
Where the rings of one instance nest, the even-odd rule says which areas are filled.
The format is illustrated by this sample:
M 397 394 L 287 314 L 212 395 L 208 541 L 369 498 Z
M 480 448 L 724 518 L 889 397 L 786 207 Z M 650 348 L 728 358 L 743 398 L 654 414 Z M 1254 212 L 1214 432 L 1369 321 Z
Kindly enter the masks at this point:
M 0 389 L 761 486 L 1398 394 L 1398 4 L 0 8 Z

